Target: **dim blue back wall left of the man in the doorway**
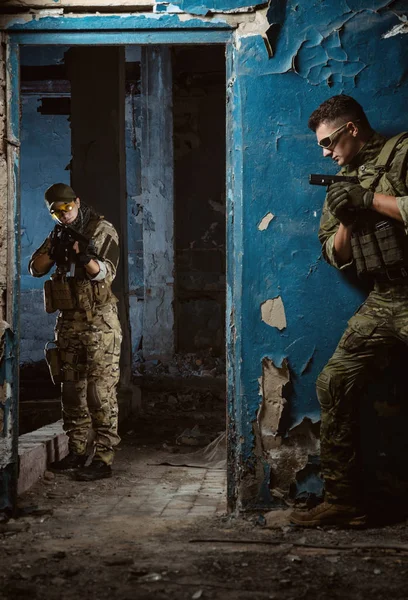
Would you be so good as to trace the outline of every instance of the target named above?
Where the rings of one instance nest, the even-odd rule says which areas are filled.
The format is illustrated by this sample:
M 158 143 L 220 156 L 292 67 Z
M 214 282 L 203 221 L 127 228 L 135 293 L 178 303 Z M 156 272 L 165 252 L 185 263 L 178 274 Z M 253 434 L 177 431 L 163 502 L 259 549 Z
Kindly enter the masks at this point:
M 43 66 L 63 61 L 66 48 L 27 47 L 21 64 Z M 44 358 L 44 346 L 54 339 L 55 314 L 44 311 L 44 278 L 28 272 L 31 254 L 53 228 L 47 217 L 44 191 L 53 183 L 70 181 L 71 131 L 66 115 L 38 112 L 41 96 L 22 95 L 21 106 L 21 335 L 20 363 Z

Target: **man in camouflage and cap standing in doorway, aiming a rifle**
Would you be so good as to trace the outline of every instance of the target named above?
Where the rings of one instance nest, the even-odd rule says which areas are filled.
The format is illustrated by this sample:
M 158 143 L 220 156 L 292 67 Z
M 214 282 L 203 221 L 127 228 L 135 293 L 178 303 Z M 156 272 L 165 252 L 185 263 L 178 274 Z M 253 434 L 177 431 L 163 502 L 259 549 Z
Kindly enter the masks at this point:
M 65 184 L 48 188 L 45 201 L 58 225 L 32 255 L 29 270 L 42 277 L 57 267 L 44 292 L 46 310 L 60 311 L 55 328 L 59 373 L 54 376 L 62 383 L 69 438 L 69 454 L 50 467 L 74 471 L 80 480 L 102 479 L 112 474 L 114 448 L 120 441 L 116 385 L 122 333 L 111 291 L 119 260 L 118 234 Z M 74 238 L 82 234 L 81 241 L 70 238 L 67 243 L 66 225 Z M 72 264 L 67 266 L 69 253 Z M 90 462 L 87 446 L 92 429 Z

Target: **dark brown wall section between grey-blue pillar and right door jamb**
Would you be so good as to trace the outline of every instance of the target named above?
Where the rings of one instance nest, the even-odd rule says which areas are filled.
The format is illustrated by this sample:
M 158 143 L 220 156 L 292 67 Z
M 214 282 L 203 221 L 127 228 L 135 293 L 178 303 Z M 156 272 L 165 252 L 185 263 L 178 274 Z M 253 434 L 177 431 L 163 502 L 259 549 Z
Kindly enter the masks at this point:
M 178 352 L 225 353 L 225 48 L 176 47 L 173 64 Z

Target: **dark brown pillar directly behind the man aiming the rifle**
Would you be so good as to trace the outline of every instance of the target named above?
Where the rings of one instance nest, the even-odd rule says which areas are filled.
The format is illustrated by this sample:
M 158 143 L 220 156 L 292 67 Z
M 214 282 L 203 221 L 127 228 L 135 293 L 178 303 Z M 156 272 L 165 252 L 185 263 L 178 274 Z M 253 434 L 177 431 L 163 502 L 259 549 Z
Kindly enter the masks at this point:
M 71 185 L 116 228 L 120 261 L 112 289 L 123 331 L 121 382 L 129 383 L 127 205 L 125 165 L 125 49 L 74 47 L 66 54 L 71 81 Z

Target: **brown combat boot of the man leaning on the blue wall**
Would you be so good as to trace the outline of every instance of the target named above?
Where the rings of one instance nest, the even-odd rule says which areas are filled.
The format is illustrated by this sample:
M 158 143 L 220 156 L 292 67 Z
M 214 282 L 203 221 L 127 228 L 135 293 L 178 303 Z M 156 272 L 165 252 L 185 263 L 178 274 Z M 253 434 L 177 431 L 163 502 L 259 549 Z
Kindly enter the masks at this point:
M 300 527 L 364 527 L 367 516 L 356 506 L 346 504 L 330 504 L 322 502 L 315 508 L 307 511 L 294 511 L 289 516 L 293 525 Z

